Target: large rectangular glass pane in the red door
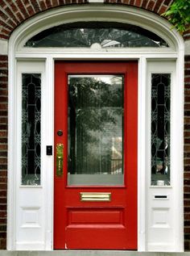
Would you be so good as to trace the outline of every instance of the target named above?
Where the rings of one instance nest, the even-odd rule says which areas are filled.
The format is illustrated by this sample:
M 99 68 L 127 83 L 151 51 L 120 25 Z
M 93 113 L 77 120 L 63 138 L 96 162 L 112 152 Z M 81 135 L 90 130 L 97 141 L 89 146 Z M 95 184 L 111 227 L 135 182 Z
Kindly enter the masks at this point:
M 123 184 L 123 76 L 68 76 L 68 185 Z

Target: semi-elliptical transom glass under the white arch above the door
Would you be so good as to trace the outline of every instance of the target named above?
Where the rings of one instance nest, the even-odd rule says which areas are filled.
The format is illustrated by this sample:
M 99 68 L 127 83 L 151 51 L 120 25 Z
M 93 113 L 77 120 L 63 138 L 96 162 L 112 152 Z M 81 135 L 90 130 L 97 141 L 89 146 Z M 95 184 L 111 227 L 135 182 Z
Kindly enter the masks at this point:
M 151 31 L 124 23 L 68 23 L 49 28 L 33 36 L 25 47 L 168 47 L 166 41 Z

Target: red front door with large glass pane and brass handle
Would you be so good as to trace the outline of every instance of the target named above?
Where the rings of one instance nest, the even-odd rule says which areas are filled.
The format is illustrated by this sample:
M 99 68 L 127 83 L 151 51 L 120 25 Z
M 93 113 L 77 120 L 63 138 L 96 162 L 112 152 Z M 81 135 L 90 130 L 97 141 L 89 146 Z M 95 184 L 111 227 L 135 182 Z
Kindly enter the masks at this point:
M 54 249 L 137 249 L 138 64 L 55 64 Z

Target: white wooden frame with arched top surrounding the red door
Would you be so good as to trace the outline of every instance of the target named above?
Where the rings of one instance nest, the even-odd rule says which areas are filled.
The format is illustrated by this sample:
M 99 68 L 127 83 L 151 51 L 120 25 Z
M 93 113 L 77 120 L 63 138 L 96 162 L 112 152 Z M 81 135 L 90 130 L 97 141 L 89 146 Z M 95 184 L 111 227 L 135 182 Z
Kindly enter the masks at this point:
M 49 27 L 55 27 L 63 23 L 87 21 L 106 21 L 117 23 L 131 23 L 154 32 L 167 42 L 169 48 L 24 48 L 23 45 L 32 36 Z M 53 145 L 54 127 L 54 60 L 138 60 L 138 251 L 157 250 L 157 251 L 183 251 L 184 250 L 184 230 L 183 230 L 183 122 L 184 122 L 184 40 L 180 34 L 171 29 L 171 24 L 159 15 L 152 14 L 146 10 L 140 10 L 132 6 L 117 6 L 106 4 L 87 4 L 78 6 L 62 6 L 52 10 L 47 10 L 22 23 L 10 36 L 9 40 L 9 149 L 8 149 L 8 229 L 7 240 L 8 250 L 53 250 L 53 157 L 47 157 L 44 153 L 42 186 L 29 187 L 30 194 L 35 191 L 37 196 L 42 199 L 40 208 L 43 215 L 42 229 L 40 233 L 42 239 L 40 243 L 35 241 L 19 241 L 19 207 L 20 197 L 24 198 L 27 187 L 22 187 L 18 183 L 17 176 L 20 175 L 19 159 L 15 152 L 19 150 L 17 145 L 19 112 L 18 112 L 18 72 L 34 72 L 41 70 L 44 75 L 43 99 L 43 127 L 46 134 L 43 136 L 43 147 Z M 147 95 L 149 94 L 148 78 L 150 77 L 151 64 L 156 63 L 162 69 L 162 61 L 165 62 L 168 72 L 175 73 L 175 88 L 173 88 L 174 99 L 177 104 L 172 105 L 172 110 L 176 114 L 173 117 L 175 124 L 174 141 L 176 146 L 172 157 L 178 158 L 176 161 L 173 177 L 173 195 L 175 196 L 176 208 L 179 209 L 176 217 L 176 227 L 173 233 L 170 246 L 163 243 L 149 244 L 149 222 L 147 209 L 150 208 L 150 158 L 147 151 L 149 145 L 150 116 L 147 116 Z M 172 62 L 170 69 L 169 65 Z M 30 65 L 31 63 L 31 65 Z M 38 64 L 39 63 L 39 64 Z M 167 65 L 168 64 L 168 65 Z M 22 71 L 23 70 L 23 71 Z M 162 69 L 163 70 L 163 69 Z M 164 70 L 163 70 L 164 71 Z M 162 71 L 162 72 L 163 72 Z M 174 87 L 174 86 L 173 86 Z M 148 134 L 147 134 L 148 133 Z M 158 188 L 155 188 L 155 191 Z M 164 188 L 163 188 L 164 190 Z M 156 193 L 159 193 L 158 191 Z M 28 194 L 28 195 L 29 195 Z M 34 203 L 35 204 L 35 203 Z M 33 205 L 33 208 L 39 206 Z M 175 209 L 176 209 L 175 208 Z M 175 213 L 176 214 L 176 213 Z M 27 229 L 26 229 L 27 232 Z M 27 236 L 27 235 L 26 235 Z

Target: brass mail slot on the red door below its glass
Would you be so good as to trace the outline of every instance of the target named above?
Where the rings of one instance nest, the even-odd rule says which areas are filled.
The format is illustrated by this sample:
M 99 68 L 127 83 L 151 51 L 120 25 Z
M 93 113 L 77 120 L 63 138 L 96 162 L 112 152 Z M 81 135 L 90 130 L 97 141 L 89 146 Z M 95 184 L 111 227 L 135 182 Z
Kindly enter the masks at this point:
M 111 193 L 99 193 L 99 192 L 81 192 L 81 201 L 82 202 L 110 202 Z

